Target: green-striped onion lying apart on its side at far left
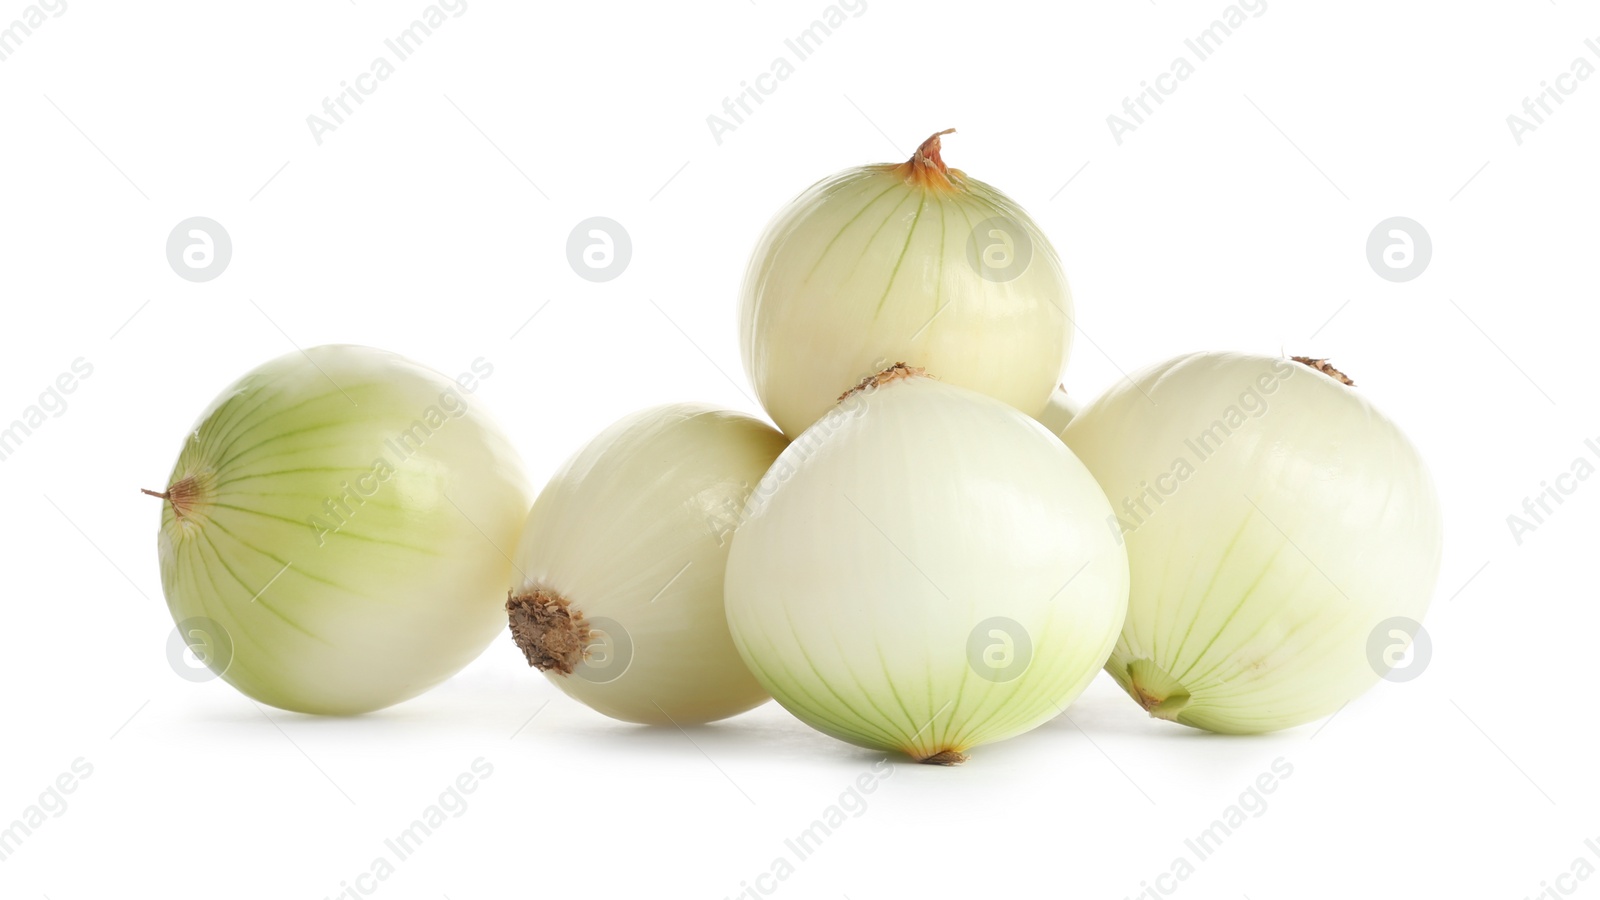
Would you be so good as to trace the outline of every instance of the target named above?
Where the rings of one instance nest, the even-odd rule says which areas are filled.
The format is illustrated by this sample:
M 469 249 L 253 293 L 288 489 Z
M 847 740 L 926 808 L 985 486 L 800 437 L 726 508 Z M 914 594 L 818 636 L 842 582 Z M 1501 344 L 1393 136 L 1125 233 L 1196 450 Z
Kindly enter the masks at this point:
M 163 493 L 173 618 L 226 633 L 229 657 L 208 665 L 248 697 L 323 714 L 400 703 L 478 657 L 504 628 L 499 548 L 531 498 L 461 384 L 360 346 L 246 373 Z

